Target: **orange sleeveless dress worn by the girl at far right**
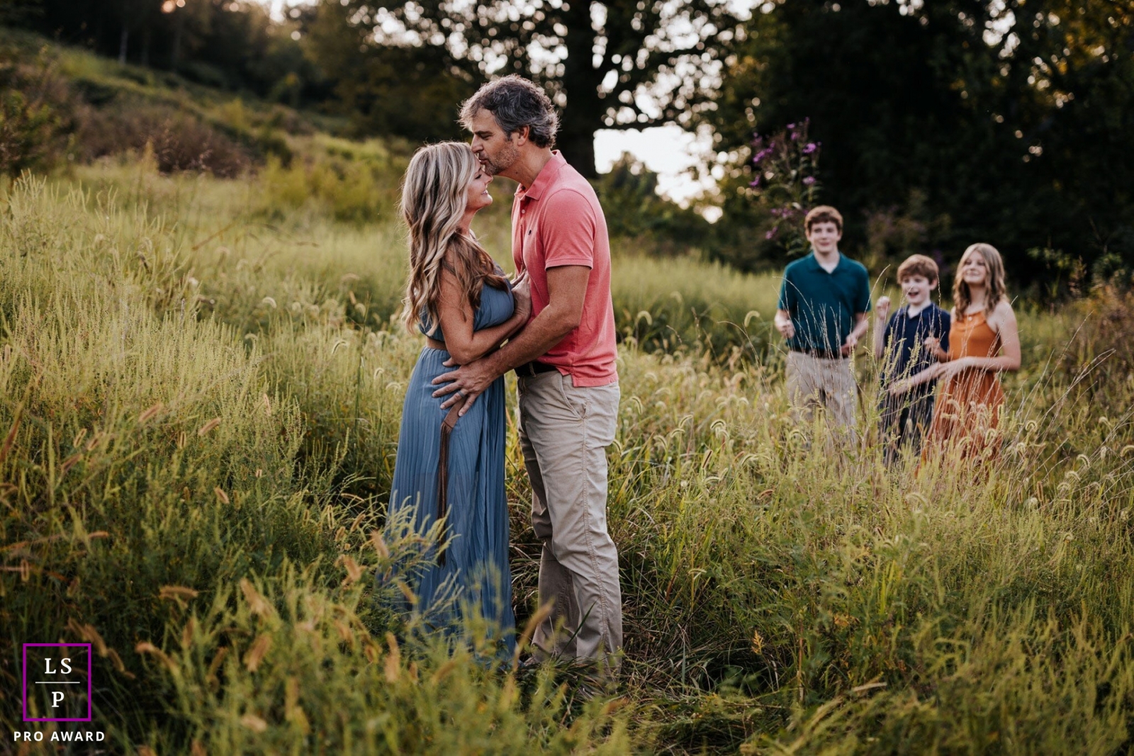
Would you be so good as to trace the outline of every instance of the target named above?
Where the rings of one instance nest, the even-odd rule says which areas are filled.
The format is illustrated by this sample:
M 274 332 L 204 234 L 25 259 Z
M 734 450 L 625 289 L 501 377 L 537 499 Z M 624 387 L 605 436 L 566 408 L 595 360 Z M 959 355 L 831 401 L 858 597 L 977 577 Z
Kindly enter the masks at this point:
M 949 329 L 950 360 L 996 357 L 999 351 L 1000 335 L 989 326 L 983 311 L 954 316 Z M 995 442 L 996 434 L 990 432 L 1000 424 L 1002 404 L 1004 391 L 996 371 L 960 371 L 938 391 L 926 451 L 936 445 L 957 449 L 963 457 L 979 456 Z

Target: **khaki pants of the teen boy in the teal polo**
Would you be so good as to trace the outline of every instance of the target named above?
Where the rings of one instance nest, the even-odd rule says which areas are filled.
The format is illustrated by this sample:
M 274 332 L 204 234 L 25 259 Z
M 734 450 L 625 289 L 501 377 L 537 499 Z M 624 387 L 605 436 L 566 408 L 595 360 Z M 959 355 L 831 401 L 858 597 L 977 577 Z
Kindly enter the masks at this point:
M 787 400 L 796 419 L 810 423 L 815 408 L 826 411 L 832 433 L 854 441 L 858 385 L 846 358 L 823 359 L 787 352 Z

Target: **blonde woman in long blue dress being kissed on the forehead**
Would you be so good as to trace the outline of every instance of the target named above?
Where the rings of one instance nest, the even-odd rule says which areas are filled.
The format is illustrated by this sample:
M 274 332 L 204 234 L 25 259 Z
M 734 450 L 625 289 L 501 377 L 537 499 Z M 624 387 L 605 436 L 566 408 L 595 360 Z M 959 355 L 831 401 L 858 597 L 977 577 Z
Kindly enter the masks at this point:
M 409 229 L 403 317 L 425 338 L 401 414 L 390 521 L 424 536 L 426 567 L 411 578 L 417 610 L 452 626 L 474 606 L 514 648 L 508 506 L 505 495 L 505 387 L 498 379 L 457 418 L 441 409 L 433 379 L 497 349 L 528 320 L 526 280 L 509 283 L 474 238 L 473 216 L 492 203 L 491 175 L 472 148 L 446 142 L 418 150 L 401 193 Z M 440 528 L 431 532 L 441 521 Z

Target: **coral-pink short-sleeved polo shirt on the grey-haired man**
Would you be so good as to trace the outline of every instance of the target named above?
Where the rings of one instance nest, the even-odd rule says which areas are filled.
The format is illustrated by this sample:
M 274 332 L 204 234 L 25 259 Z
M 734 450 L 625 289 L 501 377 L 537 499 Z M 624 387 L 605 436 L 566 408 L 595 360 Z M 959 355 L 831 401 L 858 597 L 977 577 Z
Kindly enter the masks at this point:
M 599 197 L 556 150 L 532 186 L 516 189 L 511 256 L 532 281 L 532 317 L 548 306 L 548 269 L 591 269 L 578 326 L 540 357 L 577 387 L 618 381 L 615 306 L 610 299 L 610 239 Z

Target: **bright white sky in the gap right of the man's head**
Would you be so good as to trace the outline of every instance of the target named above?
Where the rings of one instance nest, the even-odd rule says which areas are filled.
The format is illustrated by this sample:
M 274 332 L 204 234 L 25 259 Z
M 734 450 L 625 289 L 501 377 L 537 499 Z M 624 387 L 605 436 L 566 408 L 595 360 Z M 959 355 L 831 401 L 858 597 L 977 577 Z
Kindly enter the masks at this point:
M 312 0 L 255 0 L 271 8 L 272 16 L 282 19 L 287 9 L 298 5 L 310 5 Z M 710 147 L 703 137 L 683 130 L 677 126 L 660 126 L 643 130 L 603 129 L 594 135 L 594 158 L 600 173 L 610 170 L 624 152 L 642 161 L 646 168 L 658 173 L 658 188 L 676 202 L 684 202 L 702 190 L 711 188 L 711 180 L 697 181 L 688 175 L 688 169 L 697 163 Z

